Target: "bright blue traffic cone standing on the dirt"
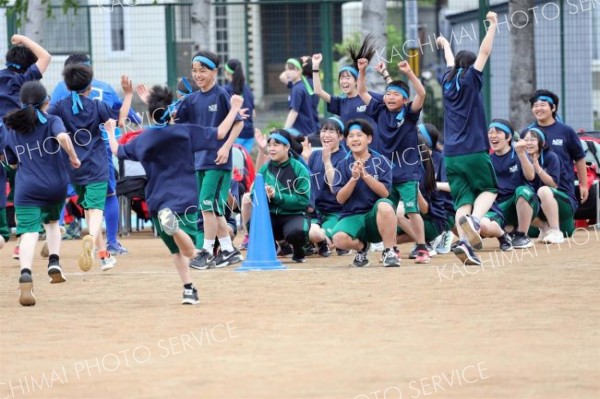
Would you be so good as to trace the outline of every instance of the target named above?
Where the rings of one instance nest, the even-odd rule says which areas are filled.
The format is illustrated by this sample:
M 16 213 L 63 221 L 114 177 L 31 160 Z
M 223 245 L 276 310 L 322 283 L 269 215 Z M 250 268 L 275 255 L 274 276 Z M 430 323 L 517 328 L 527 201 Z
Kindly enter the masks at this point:
M 261 174 L 254 179 L 254 207 L 250 218 L 250 239 L 248 243 L 248 256 L 242 266 L 236 271 L 245 272 L 252 270 L 281 270 L 287 269 L 277 260 L 275 240 L 271 229 L 271 215 L 269 202 L 265 192 L 265 180 Z

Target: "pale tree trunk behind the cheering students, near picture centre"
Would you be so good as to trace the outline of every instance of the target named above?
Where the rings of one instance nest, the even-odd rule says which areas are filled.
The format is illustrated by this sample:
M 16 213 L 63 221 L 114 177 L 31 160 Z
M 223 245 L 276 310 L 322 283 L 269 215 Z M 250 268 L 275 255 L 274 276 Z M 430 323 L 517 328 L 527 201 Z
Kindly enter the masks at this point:
M 387 61 L 387 36 L 385 28 L 387 26 L 387 8 L 386 0 L 363 0 L 362 15 L 361 15 L 361 30 L 363 36 L 371 34 L 373 44 L 377 49 L 376 55 L 371 60 L 371 66 L 376 65 L 379 61 Z M 394 68 L 395 65 L 389 65 L 388 69 Z M 367 73 L 367 85 L 369 90 L 383 92 L 385 90 L 385 82 L 377 72 L 370 71 Z

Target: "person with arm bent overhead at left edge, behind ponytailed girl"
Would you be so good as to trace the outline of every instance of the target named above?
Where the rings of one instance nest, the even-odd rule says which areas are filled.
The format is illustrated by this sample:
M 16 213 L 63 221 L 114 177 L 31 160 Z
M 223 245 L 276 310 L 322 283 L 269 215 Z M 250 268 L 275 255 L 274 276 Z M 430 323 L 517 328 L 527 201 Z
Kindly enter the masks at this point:
M 21 108 L 21 86 L 25 82 L 40 80 L 51 59 L 50 53 L 26 36 L 13 35 L 10 41 L 13 47 L 6 52 L 6 68 L 0 70 L 0 120 L 10 111 Z M 4 181 L 0 190 L 0 204 L 6 203 L 5 179 L 6 175 L 3 179 L 0 172 L 0 184 Z M 19 241 L 12 257 L 19 259 Z

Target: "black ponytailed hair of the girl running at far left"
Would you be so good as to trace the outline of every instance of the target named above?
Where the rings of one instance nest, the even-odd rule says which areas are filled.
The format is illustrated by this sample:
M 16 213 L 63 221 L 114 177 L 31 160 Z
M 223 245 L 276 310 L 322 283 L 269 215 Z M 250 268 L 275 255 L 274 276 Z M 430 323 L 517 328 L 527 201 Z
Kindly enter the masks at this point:
M 48 100 L 48 93 L 40 82 L 27 82 L 21 87 L 20 98 L 23 107 L 4 116 L 4 124 L 17 133 L 25 134 L 41 123 L 37 112 Z

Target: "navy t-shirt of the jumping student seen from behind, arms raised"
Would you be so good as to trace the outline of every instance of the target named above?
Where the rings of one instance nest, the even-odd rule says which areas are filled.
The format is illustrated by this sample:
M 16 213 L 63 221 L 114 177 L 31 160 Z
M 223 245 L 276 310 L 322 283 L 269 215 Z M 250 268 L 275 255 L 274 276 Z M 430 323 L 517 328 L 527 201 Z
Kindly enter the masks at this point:
M 487 124 L 481 88 L 483 73 L 470 66 L 456 79 L 448 81 L 452 69 L 448 68 L 444 82 L 444 155 L 464 155 L 488 151 Z

